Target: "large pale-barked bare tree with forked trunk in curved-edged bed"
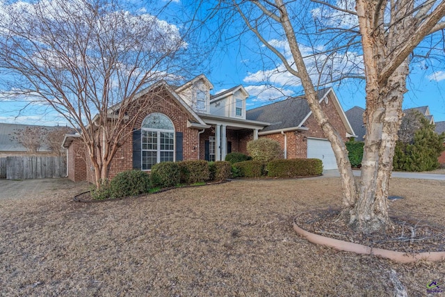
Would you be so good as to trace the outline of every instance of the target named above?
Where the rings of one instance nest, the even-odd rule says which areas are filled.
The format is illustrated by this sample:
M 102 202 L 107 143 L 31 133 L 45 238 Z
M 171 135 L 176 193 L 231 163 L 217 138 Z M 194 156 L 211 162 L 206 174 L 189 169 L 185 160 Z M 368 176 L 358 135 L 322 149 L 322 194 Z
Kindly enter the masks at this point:
M 309 107 L 337 158 L 343 214 L 349 216 L 350 225 L 364 232 L 390 227 L 389 177 L 403 115 L 401 106 L 407 91 L 410 54 L 426 35 L 444 29 L 441 19 L 445 15 L 445 1 L 232 0 L 218 3 L 220 8 L 238 12 L 247 28 L 279 59 L 284 72 L 301 82 Z M 315 17 L 320 11 L 319 17 L 325 17 L 323 22 Z M 285 43 L 288 53 L 283 52 L 280 42 Z M 312 54 L 302 54 L 307 47 L 312 49 Z M 353 67 L 340 67 L 336 72 L 336 58 L 343 56 L 343 61 L 348 62 L 347 51 L 353 47 L 356 51 L 353 56 L 360 56 L 362 65 L 353 60 Z M 360 67 L 366 79 L 366 140 L 362 176 L 355 179 L 345 144 L 318 104 L 316 87 L 345 77 L 359 77 L 360 72 L 353 70 Z

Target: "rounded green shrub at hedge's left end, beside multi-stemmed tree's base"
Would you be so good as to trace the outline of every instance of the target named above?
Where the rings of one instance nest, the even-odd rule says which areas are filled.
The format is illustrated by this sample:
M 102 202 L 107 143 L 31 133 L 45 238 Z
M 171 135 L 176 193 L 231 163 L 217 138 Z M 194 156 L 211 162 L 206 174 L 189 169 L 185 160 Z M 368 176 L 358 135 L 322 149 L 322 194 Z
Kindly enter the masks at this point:
M 110 182 L 111 198 L 136 196 L 149 192 L 150 178 L 147 172 L 127 170 L 118 173 Z

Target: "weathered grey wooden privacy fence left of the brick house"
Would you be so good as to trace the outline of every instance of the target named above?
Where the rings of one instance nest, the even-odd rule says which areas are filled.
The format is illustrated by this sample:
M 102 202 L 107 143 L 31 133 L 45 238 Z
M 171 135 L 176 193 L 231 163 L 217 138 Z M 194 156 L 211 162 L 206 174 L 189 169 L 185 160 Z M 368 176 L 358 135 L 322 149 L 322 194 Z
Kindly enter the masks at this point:
M 64 156 L 7 156 L 0 158 L 0 177 L 3 175 L 6 179 L 65 177 L 67 174 L 65 160 Z

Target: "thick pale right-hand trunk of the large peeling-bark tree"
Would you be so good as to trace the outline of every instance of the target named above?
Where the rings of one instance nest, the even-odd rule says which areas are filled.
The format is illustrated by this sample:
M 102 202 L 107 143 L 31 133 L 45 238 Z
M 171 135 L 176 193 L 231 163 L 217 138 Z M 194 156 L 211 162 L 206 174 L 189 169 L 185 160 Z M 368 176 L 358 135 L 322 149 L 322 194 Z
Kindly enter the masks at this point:
M 366 138 L 357 204 L 350 212 L 350 224 L 358 231 L 385 231 L 391 227 L 388 189 L 397 131 L 403 117 L 402 101 L 409 73 L 405 61 L 382 89 L 378 106 L 367 109 Z

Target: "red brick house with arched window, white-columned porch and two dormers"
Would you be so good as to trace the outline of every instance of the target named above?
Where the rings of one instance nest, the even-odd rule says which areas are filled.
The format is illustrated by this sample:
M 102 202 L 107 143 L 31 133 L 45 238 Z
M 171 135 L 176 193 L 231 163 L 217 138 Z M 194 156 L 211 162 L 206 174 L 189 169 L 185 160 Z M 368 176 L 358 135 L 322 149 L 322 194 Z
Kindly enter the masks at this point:
M 298 105 L 291 104 L 292 111 L 290 106 L 283 106 L 286 112 L 281 114 L 292 119 L 289 126 L 277 125 L 276 118 L 255 116 L 259 109 L 247 111 L 245 100 L 249 95 L 243 86 L 210 95 L 213 86 L 204 75 L 182 86 L 161 82 L 151 88 L 163 89 L 162 102 L 157 101 L 153 107 L 147 108 L 136 121 L 133 131 L 129 131 L 128 141 L 113 158 L 110 178 L 124 170 L 149 171 L 162 161 L 224 160 L 230 152 L 246 153 L 248 141 L 258 137 L 277 139 L 282 144 L 285 158 L 321 156 L 321 159 L 327 159 L 332 152 L 329 142 L 329 148 L 317 148 L 325 145 L 326 140 L 301 97 L 284 100 L 284 104 L 299 102 Z M 149 89 L 142 91 L 138 98 L 143 98 Z M 323 109 L 338 125 L 339 133 L 345 139 L 354 135 L 333 90 L 325 89 L 318 96 L 324 102 Z M 270 104 L 269 108 L 279 106 L 277 104 L 283 103 Z M 265 107 L 260 109 L 266 110 Z M 293 113 L 298 113 L 299 118 Z M 63 147 L 67 148 L 68 177 L 74 181 L 94 182 L 94 169 L 80 135 L 65 136 Z M 325 162 L 323 160 L 323 164 Z

